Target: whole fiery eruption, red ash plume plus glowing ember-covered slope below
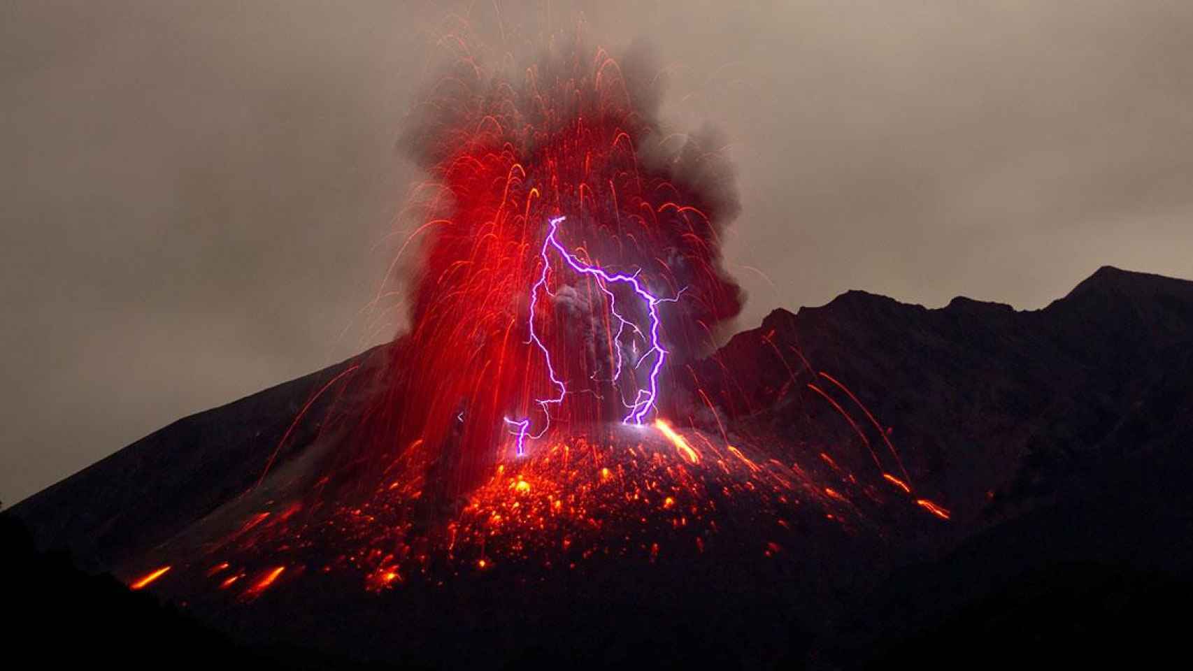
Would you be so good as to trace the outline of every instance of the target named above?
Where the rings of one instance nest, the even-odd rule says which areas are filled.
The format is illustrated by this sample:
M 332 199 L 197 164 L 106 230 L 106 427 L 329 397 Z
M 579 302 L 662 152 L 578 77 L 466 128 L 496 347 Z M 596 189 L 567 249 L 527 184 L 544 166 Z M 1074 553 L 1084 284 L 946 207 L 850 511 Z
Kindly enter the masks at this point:
M 346 572 L 381 591 L 700 557 L 742 527 L 753 535 L 734 552 L 781 560 L 810 518 L 874 536 L 877 508 L 948 518 L 828 373 L 797 383 L 789 367 L 775 399 L 822 398 L 857 436 L 836 452 L 747 431 L 731 385 L 691 384 L 688 364 L 741 309 L 721 266 L 733 172 L 709 138 L 665 130 L 645 66 L 561 38 L 503 76 L 458 50 L 414 123 L 429 175 L 398 255 L 414 269 L 378 294 L 404 296 L 409 331 L 383 365 L 314 394 L 258 490 L 227 504 L 231 529 L 167 543 L 130 586 L 190 576 L 251 602 Z M 326 455 L 314 474 L 280 473 L 309 423 Z M 857 454 L 873 467 L 843 465 Z

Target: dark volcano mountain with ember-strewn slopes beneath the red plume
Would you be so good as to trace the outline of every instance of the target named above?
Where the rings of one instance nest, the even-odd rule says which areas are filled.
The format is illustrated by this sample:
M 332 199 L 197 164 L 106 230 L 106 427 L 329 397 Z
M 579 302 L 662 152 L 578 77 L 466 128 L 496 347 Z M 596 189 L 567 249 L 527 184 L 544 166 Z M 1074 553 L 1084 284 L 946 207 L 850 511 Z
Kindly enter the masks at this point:
M 388 393 L 366 373 L 407 346 L 180 420 L 6 515 L 237 645 L 345 664 L 839 667 L 904 640 L 923 660 L 1049 571 L 1193 576 L 1189 281 L 1105 267 L 1036 311 L 775 310 L 678 367 L 668 420 L 577 422 L 466 486 L 445 485 L 452 436 L 402 452 L 418 478 L 341 456 L 345 417 Z M 1105 617 L 1141 621 L 1124 603 Z

